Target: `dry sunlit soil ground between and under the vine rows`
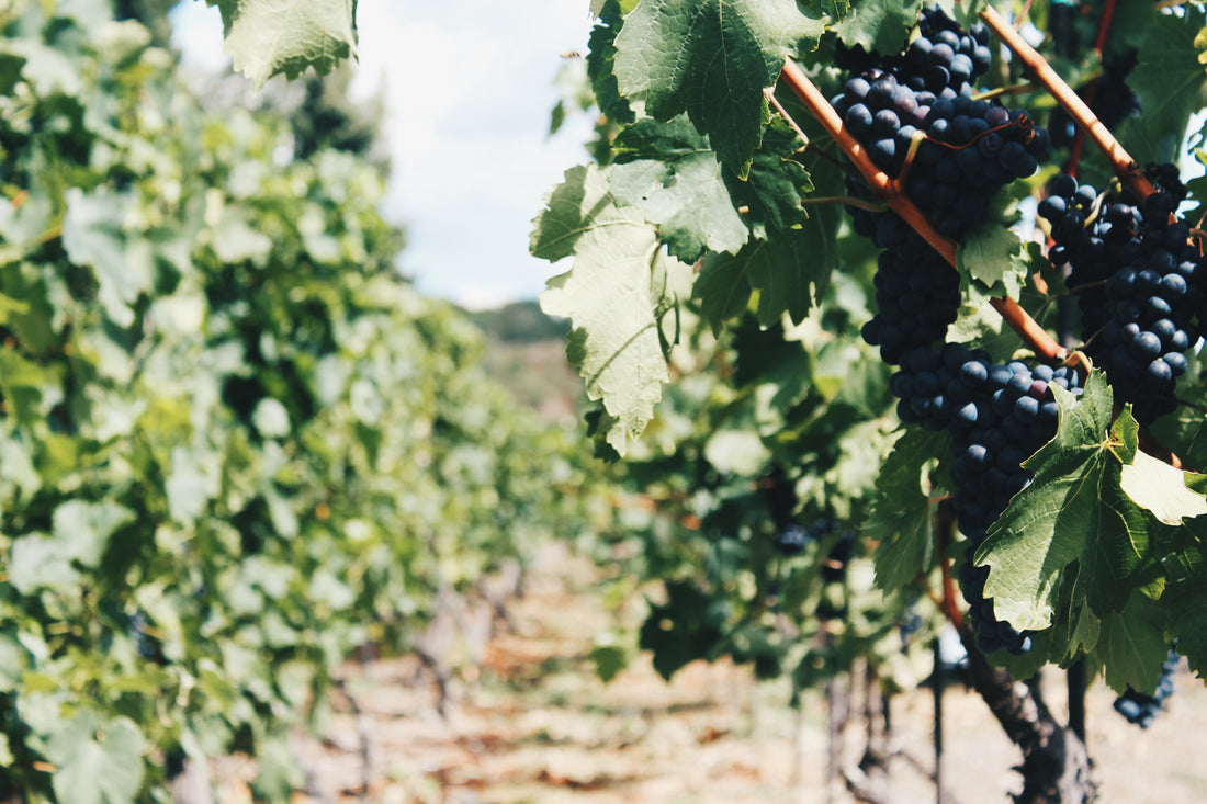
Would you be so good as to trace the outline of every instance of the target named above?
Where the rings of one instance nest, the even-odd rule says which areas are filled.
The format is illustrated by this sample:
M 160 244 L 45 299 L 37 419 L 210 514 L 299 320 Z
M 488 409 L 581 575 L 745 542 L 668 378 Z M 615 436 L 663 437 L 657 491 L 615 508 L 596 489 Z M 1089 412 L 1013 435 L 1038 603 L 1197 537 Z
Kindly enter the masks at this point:
M 515 629 L 485 646 L 480 670 L 450 687 L 445 716 L 413 658 L 349 663 L 323 740 L 298 738 L 310 785 L 297 804 L 779 804 L 855 799 L 824 776 L 826 709 L 800 712 L 787 687 L 757 683 L 729 663 L 692 664 L 664 682 L 641 659 L 605 684 L 587 659 L 612 614 L 585 561 L 554 550 L 511 607 Z M 1088 697 L 1089 748 L 1103 802 L 1207 803 L 1207 689 L 1186 672 L 1168 711 L 1147 732 L 1123 721 L 1101 684 Z M 1063 676 L 1044 680 L 1063 718 Z M 856 695 L 858 698 L 858 695 Z M 858 706 L 859 701 L 855 704 Z M 943 779 L 949 804 L 1008 802 L 1021 788 L 1016 748 L 984 703 L 962 688 L 945 705 Z M 890 763 L 896 800 L 935 800 L 928 691 L 892 701 Z M 842 762 L 863 751 L 863 724 L 842 738 Z M 223 804 L 249 802 L 250 765 L 227 763 Z M 226 774 L 222 779 L 221 774 Z

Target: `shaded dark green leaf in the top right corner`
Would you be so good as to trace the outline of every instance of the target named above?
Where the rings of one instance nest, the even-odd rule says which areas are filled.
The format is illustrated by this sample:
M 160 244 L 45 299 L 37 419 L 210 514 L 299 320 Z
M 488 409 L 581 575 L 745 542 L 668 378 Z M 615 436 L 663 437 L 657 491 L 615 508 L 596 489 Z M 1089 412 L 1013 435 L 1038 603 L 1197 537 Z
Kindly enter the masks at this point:
M 1199 63 L 1195 37 L 1207 21 L 1200 6 L 1183 14 L 1156 14 L 1144 28 L 1138 60 L 1127 86 L 1141 98 L 1143 113 L 1119 128 L 1119 141 L 1139 163 L 1176 161 L 1190 116 L 1203 106 L 1207 71 Z

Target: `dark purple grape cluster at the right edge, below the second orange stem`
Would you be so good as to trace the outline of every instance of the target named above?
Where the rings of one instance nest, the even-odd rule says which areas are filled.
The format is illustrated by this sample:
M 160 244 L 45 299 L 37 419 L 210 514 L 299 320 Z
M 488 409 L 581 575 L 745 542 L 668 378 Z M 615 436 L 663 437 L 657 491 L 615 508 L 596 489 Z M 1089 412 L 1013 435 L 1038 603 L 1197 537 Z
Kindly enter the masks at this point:
M 1177 190 L 1139 204 L 1127 191 L 1100 194 L 1061 175 L 1039 205 L 1055 240 L 1048 256 L 1069 267 L 1085 353 L 1145 425 L 1177 404 L 1173 389 L 1207 301 L 1205 258 L 1176 215 L 1178 202 Z

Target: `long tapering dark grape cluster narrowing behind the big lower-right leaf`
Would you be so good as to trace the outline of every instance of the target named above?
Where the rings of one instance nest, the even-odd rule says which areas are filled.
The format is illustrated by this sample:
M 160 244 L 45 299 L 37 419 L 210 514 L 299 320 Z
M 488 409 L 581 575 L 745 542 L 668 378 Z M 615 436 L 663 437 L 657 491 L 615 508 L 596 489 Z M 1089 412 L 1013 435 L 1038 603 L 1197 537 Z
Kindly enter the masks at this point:
M 905 354 L 888 384 L 902 421 L 951 433 L 952 502 L 969 542 L 960 584 L 976 643 L 986 653 L 1030 647 L 1026 633 L 995 617 L 993 601 L 985 598 L 989 569 L 975 566 L 973 557 L 1010 499 L 1031 482 L 1022 461 L 1056 433 L 1060 407 L 1053 385 L 1078 394 L 1080 383 L 1068 367 L 995 365 L 985 350 L 961 344 Z

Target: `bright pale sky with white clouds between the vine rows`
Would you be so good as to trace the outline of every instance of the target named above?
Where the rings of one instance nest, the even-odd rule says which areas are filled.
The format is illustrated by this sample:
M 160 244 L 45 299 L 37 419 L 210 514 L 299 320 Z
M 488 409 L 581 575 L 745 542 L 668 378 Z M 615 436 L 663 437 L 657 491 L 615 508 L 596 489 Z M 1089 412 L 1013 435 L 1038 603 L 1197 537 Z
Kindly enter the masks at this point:
M 548 135 L 562 53 L 585 52 L 588 0 L 361 0 L 351 92 L 385 94 L 393 174 L 383 215 L 401 223 L 400 267 L 427 295 L 479 309 L 535 298 L 567 266 L 529 256 L 532 219 L 587 161 L 585 115 Z M 229 70 L 217 8 L 173 14 L 187 65 Z M 282 78 L 274 78 L 281 81 Z

